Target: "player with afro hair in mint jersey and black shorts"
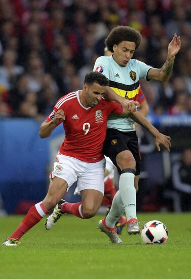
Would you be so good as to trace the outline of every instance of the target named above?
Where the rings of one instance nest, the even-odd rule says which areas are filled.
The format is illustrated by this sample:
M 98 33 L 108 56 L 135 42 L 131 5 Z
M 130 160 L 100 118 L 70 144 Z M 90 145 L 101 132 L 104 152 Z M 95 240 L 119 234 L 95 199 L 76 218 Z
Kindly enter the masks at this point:
M 120 102 L 129 110 L 134 110 L 139 90 L 139 80 L 167 81 L 171 75 L 175 55 L 180 50 L 181 40 L 176 34 L 168 45 L 167 60 L 161 68 L 153 68 L 132 59 L 134 51 L 141 43 L 141 34 L 134 28 L 118 26 L 108 34 L 105 45 L 111 56 L 97 58 L 94 71 L 104 74 L 109 79 L 105 96 Z M 117 94 L 116 94 L 117 93 Z M 133 112 L 132 112 L 133 115 Z M 139 179 L 140 154 L 138 138 L 132 119 L 110 115 L 104 153 L 118 167 L 120 173 L 119 191 L 113 198 L 109 214 L 98 223 L 98 228 L 108 236 L 116 221 L 125 212 L 129 234 L 140 233 L 136 217 L 136 190 L 134 182 Z

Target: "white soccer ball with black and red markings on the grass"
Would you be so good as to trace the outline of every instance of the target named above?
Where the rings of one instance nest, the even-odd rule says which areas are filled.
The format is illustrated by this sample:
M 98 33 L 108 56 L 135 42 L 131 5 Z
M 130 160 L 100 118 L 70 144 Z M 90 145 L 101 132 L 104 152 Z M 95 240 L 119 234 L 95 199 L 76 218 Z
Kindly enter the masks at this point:
M 168 238 L 167 227 L 160 221 L 153 220 L 144 224 L 141 237 L 145 244 L 161 244 Z

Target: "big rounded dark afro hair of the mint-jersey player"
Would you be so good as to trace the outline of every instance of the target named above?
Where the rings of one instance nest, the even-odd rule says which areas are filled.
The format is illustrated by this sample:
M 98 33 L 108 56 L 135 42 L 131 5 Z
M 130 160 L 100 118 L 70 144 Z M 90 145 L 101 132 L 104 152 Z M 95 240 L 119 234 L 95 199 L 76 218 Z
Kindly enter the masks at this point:
M 141 43 L 141 34 L 135 28 L 129 26 L 117 26 L 108 34 L 105 45 L 110 52 L 113 52 L 113 46 L 123 41 L 134 42 L 135 49 L 137 49 Z

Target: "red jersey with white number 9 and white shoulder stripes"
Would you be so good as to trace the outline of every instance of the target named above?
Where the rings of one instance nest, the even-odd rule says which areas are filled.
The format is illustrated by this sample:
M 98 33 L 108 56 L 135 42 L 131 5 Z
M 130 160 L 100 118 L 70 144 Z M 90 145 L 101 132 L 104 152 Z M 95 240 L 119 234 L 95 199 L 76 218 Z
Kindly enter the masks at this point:
M 60 153 L 85 162 L 98 162 L 103 159 L 107 118 L 110 113 L 122 114 L 121 104 L 101 99 L 94 108 L 86 108 L 77 91 L 61 97 L 47 121 L 51 121 L 58 110 L 63 110 L 65 114 L 65 120 L 62 121 L 65 139 Z

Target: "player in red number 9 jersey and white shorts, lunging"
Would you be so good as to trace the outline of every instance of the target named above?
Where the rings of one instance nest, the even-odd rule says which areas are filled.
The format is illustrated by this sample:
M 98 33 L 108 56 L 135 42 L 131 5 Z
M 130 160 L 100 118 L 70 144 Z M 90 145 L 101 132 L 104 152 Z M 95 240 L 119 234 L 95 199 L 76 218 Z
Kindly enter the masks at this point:
M 49 214 L 55 205 L 53 213 L 47 218 L 47 229 L 51 229 L 64 213 L 85 219 L 96 214 L 104 193 L 105 159 L 102 149 L 107 117 L 112 112 L 129 114 L 128 109 L 122 108 L 119 103 L 102 98 L 107 85 L 108 80 L 104 75 L 90 72 L 86 75 L 83 89 L 58 100 L 53 112 L 41 124 L 39 134 L 44 138 L 63 123 L 65 139 L 56 156 L 46 197 L 30 208 L 17 229 L 3 242 L 3 246 L 17 246 L 23 234 Z M 161 134 L 140 113 L 131 112 L 131 117 L 155 136 L 158 149 L 159 144 L 162 144 L 169 150 L 169 136 Z M 82 202 L 59 202 L 76 181 L 78 187 L 75 192 L 80 192 Z M 112 242 L 122 242 L 115 230 L 111 233 Z

